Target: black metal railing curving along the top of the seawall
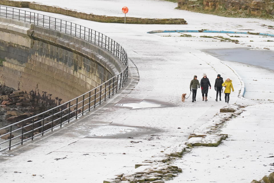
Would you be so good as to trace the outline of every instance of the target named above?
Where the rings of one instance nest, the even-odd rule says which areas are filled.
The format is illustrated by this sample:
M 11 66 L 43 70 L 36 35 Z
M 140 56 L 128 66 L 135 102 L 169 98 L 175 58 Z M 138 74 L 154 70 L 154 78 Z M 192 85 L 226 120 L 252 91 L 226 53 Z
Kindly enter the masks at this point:
M 8 143 L 8 146 L 1 148 L 0 151 L 6 149 L 11 150 L 11 147 L 17 144 L 23 145 L 23 142 L 27 140 L 33 140 L 33 138 L 38 135 L 43 136 L 45 132 L 50 130 L 53 131 L 53 128 L 58 126 L 62 127 L 62 124 L 69 123 L 70 120 L 74 118 L 77 119 L 78 116 L 83 115 L 84 112 L 90 111 L 90 109 L 100 105 L 102 102 L 106 101 L 107 98 L 110 98 L 111 95 L 113 96 L 114 93 L 117 93 L 118 89 L 120 90 L 124 87 L 128 79 L 128 56 L 124 48 L 110 37 L 69 21 L 1 5 L 0 17 L 24 21 L 60 31 L 74 37 L 79 37 L 109 51 L 114 56 L 118 57 L 125 66 L 125 69 L 119 74 L 68 102 L 0 128 L 0 130 L 7 131 L 7 133 L 0 135 L 0 138 L 6 135 L 9 138 L 8 140 L 0 142 L 0 145 Z M 18 128 L 14 128 L 15 125 L 17 125 Z

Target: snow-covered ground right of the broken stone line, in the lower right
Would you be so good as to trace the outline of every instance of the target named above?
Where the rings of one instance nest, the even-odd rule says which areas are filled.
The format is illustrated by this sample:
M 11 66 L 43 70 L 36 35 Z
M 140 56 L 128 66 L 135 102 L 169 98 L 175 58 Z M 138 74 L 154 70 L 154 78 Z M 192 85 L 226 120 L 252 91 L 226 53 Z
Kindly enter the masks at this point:
M 273 108 L 273 103 L 246 107 L 221 130 L 227 140 L 192 149 L 176 162 L 183 173 L 169 182 L 246 183 L 274 172 Z

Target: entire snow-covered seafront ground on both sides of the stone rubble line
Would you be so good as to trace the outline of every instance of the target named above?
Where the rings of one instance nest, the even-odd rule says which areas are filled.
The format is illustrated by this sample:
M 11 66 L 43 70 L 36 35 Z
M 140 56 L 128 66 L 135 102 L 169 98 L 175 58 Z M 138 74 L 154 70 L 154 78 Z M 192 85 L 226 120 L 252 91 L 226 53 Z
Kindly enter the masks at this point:
M 73 9 L 92 13 L 92 8 L 86 9 L 86 5 L 91 2 L 79 0 L 77 4 L 83 6 L 74 6 Z M 134 9 L 138 10 L 138 13 L 132 13 L 133 15 L 158 18 L 157 11 L 153 11 L 155 14 L 151 12 L 146 14 L 147 11 L 142 6 L 143 1 L 137 5 L 134 3 L 136 1 L 119 1 L 121 2 L 124 2 L 123 6 L 128 6 L 129 9 L 134 6 Z M 192 38 L 177 37 L 173 34 L 170 36 L 176 37 L 147 32 L 208 29 L 249 30 L 273 34 L 274 29 L 268 29 L 267 26 L 262 25 L 273 25 L 274 22 L 174 10 L 176 4 L 165 1 L 146 2 L 151 8 L 162 5 L 159 7 L 159 12 L 164 12 L 161 18 L 184 18 L 188 25 L 98 23 L 30 10 L 95 29 L 116 40 L 128 53 L 129 78 L 126 87 L 120 91 L 119 95 L 95 111 L 87 113 L 60 130 L 47 134 L 44 138 L 18 146 L 10 152 L 1 153 L 0 179 L 2 182 L 102 183 L 113 175 L 134 170 L 135 164 L 161 153 L 169 146 L 187 141 L 195 128 L 207 122 L 226 105 L 223 96 L 222 101 L 215 101 L 214 82 L 217 74 L 221 74 L 224 79 L 229 77 L 233 81 L 235 92 L 232 92 L 229 103 L 253 106 L 248 106 L 241 116 L 227 123 L 223 133 L 228 134 L 229 138 L 220 146 L 193 148 L 192 152 L 175 162 L 177 166 L 183 168 L 183 173 L 170 182 L 192 180 L 199 183 L 210 181 L 244 183 L 270 174 L 269 164 L 273 163 L 273 158 L 267 157 L 273 156 L 270 154 L 274 152 L 272 133 L 274 124 L 270 120 L 273 114 L 269 113 L 274 107 L 271 103 L 274 100 L 273 71 L 220 61 L 201 50 L 267 47 L 273 51 L 273 42 L 271 45 L 268 44 L 271 41 L 266 40 L 274 41 L 274 38 L 254 36 L 252 42 L 239 40 L 240 44 L 235 44 L 218 40 L 207 41 L 198 36 L 197 40 L 191 40 Z M 53 3 L 51 1 L 50 5 L 54 5 Z M 67 0 L 60 1 L 56 5 L 72 9 L 67 4 L 73 6 L 73 3 L 74 1 Z M 102 10 L 105 11 L 103 13 L 105 15 L 108 15 L 108 10 L 112 11 L 111 6 L 107 7 L 108 9 Z M 169 15 L 169 11 L 172 15 Z M 245 82 L 247 99 L 259 100 L 252 102 L 237 97 L 242 85 L 235 71 L 243 78 L 243 81 L 249 81 Z M 208 101 L 202 101 L 199 89 L 196 102 L 191 102 L 191 96 L 186 99 L 186 102 L 181 102 L 182 93 L 187 93 L 187 96 L 190 94 L 189 84 L 193 76 L 197 75 L 200 80 L 204 73 L 207 74 L 212 85 Z M 267 92 L 264 92 L 264 88 Z M 261 104 L 258 101 L 270 103 Z M 259 138 L 255 137 L 256 134 Z M 237 152 L 239 156 L 236 156 Z M 216 159 L 222 160 L 217 162 Z M 29 160 L 31 162 L 28 162 Z M 272 169 L 274 169 L 273 166 Z M 15 171 L 20 173 L 14 173 Z

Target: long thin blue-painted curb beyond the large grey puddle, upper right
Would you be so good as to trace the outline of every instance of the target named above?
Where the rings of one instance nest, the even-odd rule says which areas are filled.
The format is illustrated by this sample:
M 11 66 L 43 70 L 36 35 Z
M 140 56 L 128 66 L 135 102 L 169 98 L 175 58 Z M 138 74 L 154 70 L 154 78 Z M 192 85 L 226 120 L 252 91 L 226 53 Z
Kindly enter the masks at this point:
M 250 35 L 261 35 L 261 36 L 270 36 L 274 37 L 274 34 L 267 33 L 251 33 L 251 32 L 235 32 L 235 31 L 208 31 L 208 30 L 161 30 L 161 31 L 149 31 L 148 34 L 153 33 L 226 33 L 226 34 L 250 34 Z

